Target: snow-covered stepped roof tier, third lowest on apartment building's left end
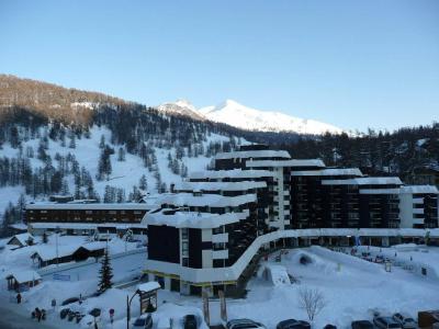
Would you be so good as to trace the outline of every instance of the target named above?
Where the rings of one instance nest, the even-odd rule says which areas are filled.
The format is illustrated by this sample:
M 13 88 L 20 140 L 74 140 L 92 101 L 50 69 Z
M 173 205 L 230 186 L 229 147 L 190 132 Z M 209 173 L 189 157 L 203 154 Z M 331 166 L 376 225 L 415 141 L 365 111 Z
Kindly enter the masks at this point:
M 175 185 L 176 191 L 248 191 L 267 188 L 264 181 L 240 182 L 181 182 Z

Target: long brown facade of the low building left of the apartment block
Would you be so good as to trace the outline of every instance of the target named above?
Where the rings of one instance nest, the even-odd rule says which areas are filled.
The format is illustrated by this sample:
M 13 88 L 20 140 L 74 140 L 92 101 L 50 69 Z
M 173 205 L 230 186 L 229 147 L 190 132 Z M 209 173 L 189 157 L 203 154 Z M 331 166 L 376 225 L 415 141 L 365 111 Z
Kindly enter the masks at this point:
M 26 209 L 27 223 L 140 223 L 147 209 Z

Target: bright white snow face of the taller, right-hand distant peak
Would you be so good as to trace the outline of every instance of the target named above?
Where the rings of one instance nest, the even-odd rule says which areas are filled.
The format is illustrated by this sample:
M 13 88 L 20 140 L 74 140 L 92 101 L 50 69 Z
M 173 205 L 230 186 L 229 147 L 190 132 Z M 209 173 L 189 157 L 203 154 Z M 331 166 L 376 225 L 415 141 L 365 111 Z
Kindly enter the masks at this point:
M 342 129 L 314 120 L 290 116 L 280 112 L 267 112 L 226 100 L 216 106 L 199 110 L 206 118 L 237 128 L 259 132 L 294 132 L 322 135 L 326 132 L 340 134 Z

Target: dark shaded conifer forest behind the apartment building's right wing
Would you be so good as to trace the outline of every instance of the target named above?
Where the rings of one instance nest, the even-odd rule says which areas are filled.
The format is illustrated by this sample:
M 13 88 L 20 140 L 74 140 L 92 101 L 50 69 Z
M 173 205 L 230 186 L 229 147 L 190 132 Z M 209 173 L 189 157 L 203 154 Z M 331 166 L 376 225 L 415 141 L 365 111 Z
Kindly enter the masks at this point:
M 326 134 L 279 145 L 296 158 L 322 158 L 327 166 L 360 167 L 368 173 L 404 175 L 420 167 L 439 170 L 438 123 L 394 133 L 369 129 L 357 137 Z

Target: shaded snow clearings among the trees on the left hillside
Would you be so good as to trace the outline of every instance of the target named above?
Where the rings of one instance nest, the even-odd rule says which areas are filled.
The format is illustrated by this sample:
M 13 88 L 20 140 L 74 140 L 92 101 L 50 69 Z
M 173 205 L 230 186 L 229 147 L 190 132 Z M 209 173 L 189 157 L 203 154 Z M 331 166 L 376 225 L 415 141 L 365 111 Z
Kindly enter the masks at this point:
M 127 197 L 133 186 L 134 185 L 138 186 L 139 179 L 143 174 L 145 174 L 147 179 L 147 186 L 148 186 L 147 191 L 149 193 L 157 193 L 155 173 L 149 171 L 148 168 L 146 168 L 143 164 L 143 160 L 138 156 L 128 152 L 126 152 L 125 161 L 117 161 L 116 152 L 114 155 L 111 155 L 110 158 L 111 158 L 112 173 L 109 180 L 98 181 L 95 179 L 98 173 L 99 158 L 101 154 L 101 149 L 99 148 L 101 136 L 104 136 L 105 141 L 110 144 L 110 146 L 113 147 L 114 149 L 117 149 L 120 147 L 117 145 L 111 144 L 111 132 L 106 127 L 104 126 L 98 127 L 94 125 L 90 129 L 90 138 L 82 137 L 80 139 L 79 138 L 76 139 L 76 148 L 69 148 L 66 146 L 63 147 L 60 141 L 54 141 L 49 139 L 47 154 L 52 157 L 52 159 L 55 158 L 56 154 L 59 154 L 63 157 L 67 157 L 69 152 L 75 155 L 76 159 L 79 162 L 79 166 L 86 167 L 87 170 L 90 172 L 93 179 L 94 190 L 98 192 L 101 198 L 104 195 L 106 185 L 124 189 L 125 196 Z M 210 134 L 209 136 L 206 136 L 206 140 L 203 141 L 203 145 L 204 147 L 206 147 L 211 141 L 221 143 L 228 140 L 229 137 L 225 137 L 217 134 Z M 27 141 L 23 141 L 22 148 L 26 149 L 27 147 L 32 147 L 36 155 L 38 141 L 40 141 L 38 139 L 30 139 Z M 172 173 L 172 171 L 168 167 L 168 155 L 171 154 L 172 156 L 175 156 L 176 148 L 165 149 L 155 147 L 154 149 L 157 157 L 157 167 L 160 172 L 161 181 L 166 183 L 168 188 L 171 183 L 180 182 L 182 178 L 178 174 Z M 12 148 L 9 143 L 4 143 L 2 145 L 2 149 L 0 149 L 0 157 L 13 158 L 19 155 L 19 151 L 20 151 L 19 149 Z M 34 169 L 43 167 L 44 164 L 43 161 L 36 158 L 36 156 L 34 158 L 31 158 L 30 160 L 31 160 L 31 166 Z M 191 158 L 184 156 L 182 158 L 182 162 L 188 167 L 189 172 L 200 171 L 206 168 L 206 166 L 211 162 L 211 158 L 202 155 L 200 155 L 199 157 L 191 157 Z M 57 162 L 54 160 L 54 166 L 56 164 Z M 69 186 L 69 193 L 74 194 L 75 193 L 74 175 L 69 174 L 66 179 Z M 23 186 L 0 186 L 0 222 L 1 222 L 1 216 L 8 203 L 12 202 L 13 204 L 15 204 L 20 194 L 23 192 L 24 192 Z M 30 202 L 33 200 L 30 195 L 27 195 L 26 201 Z

